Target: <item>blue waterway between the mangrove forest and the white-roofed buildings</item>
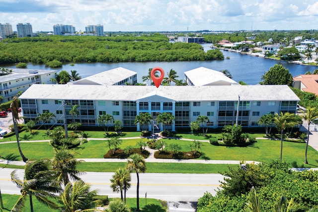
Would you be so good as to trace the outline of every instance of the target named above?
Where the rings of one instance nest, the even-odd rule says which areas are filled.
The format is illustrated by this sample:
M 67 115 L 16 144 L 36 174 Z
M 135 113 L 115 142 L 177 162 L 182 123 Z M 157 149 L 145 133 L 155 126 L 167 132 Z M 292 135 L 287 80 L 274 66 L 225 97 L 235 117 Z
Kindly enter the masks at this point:
M 211 44 L 202 44 L 204 50 L 210 50 Z M 184 78 L 184 72 L 196 69 L 199 67 L 205 67 L 216 71 L 228 70 L 231 72 L 233 79 L 237 82 L 243 81 L 247 84 L 257 84 L 261 81 L 262 75 L 265 71 L 268 71 L 270 67 L 275 64 L 281 64 L 287 68 L 293 76 L 304 74 L 306 71 L 314 71 L 318 69 L 315 66 L 304 66 L 283 61 L 275 61 L 265 59 L 261 57 L 255 57 L 245 54 L 239 54 L 234 52 L 228 52 L 221 50 L 224 57 L 230 59 L 218 60 L 218 61 L 185 61 L 185 62 L 131 62 L 131 63 L 79 63 L 74 66 L 70 64 L 64 64 L 62 68 L 52 69 L 39 64 L 28 64 L 27 69 L 37 70 L 65 70 L 71 72 L 71 70 L 78 71 L 79 75 L 87 77 L 102 71 L 123 67 L 125 69 L 136 71 L 138 82 L 142 81 L 142 76 L 148 74 L 148 70 L 154 67 L 161 67 L 165 72 L 173 69 L 177 71 L 179 79 Z M 4 68 L 14 69 L 14 65 L 2 66 Z

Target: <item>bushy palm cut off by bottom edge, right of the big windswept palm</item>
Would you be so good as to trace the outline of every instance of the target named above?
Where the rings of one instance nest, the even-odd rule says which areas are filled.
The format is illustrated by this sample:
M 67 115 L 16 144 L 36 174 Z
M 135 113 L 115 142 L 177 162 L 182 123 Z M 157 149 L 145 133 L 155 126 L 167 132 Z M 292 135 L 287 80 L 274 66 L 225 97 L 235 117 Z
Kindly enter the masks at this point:
M 90 185 L 83 181 L 77 181 L 74 184 L 68 183 L 61 194 L 61 200 L 65 212 L 75 211 L 101 211 L 94 209 L 100 204 L 100 200 L 93 200 L 97 195 L 97 190 L 90 191 Z

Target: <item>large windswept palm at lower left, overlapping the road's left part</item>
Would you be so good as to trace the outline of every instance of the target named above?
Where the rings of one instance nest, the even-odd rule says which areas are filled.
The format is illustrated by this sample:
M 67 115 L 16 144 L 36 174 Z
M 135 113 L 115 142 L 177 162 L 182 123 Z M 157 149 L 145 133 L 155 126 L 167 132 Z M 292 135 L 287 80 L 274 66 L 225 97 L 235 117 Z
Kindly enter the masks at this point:
M 11 172 L 11 181 L 21 189 L 21 195 L 11 212 L 21 211 L 27 196 L 29 196 L 31 212 L 33 212 L 32 196 L 51 209 L 59 208 L 49 198 L 56 198 L 54 193 L 60 192 L 61 187 L 56 183 L 54 172 L 49 171 L 46 160 L 27 162 L 24 167 L 24 179 L 20 180 L 14 170 Z

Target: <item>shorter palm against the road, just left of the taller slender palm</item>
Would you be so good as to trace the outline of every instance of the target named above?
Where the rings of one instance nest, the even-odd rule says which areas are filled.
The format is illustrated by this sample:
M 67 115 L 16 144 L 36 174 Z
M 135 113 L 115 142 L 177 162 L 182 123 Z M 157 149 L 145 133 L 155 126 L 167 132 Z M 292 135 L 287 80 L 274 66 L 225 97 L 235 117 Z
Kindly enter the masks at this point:
M 113 192 L 120 191 L 120 198 L 126 204 L 126 191 L 130 188 L 131 176 L 128 169 L 118 168 L 115 171 L 115 174 L 110 179 L 110 187 L 113 189 Z M 124 191 L 124 198 L 123 198 Z

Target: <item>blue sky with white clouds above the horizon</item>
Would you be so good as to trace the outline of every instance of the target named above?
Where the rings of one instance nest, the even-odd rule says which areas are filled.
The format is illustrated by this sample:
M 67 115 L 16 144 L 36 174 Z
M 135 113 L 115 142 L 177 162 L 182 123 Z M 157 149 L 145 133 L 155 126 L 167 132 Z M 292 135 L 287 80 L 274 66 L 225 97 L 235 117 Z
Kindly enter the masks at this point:
M 67 24 L 76 31 L 230 31 L 318 29 L 317 0 L 0 0 L 0 23 L 33 32 Z

